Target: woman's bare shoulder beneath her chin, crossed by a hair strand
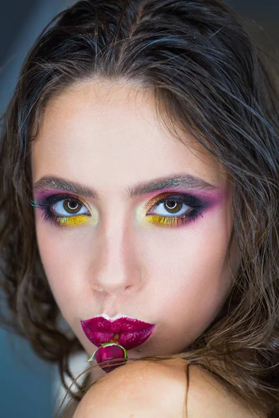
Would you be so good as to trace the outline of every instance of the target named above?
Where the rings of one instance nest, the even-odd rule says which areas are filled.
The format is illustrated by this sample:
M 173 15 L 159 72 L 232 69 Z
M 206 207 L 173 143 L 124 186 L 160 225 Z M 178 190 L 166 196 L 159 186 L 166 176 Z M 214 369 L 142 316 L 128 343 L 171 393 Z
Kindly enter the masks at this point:
M 74 418 L 186 418 L 186 407 L 188 418 L 256 418 L 197 366 L 189 368 L 186 405 L 187 364 L 183 359 L 128 362 L 89 389 Z

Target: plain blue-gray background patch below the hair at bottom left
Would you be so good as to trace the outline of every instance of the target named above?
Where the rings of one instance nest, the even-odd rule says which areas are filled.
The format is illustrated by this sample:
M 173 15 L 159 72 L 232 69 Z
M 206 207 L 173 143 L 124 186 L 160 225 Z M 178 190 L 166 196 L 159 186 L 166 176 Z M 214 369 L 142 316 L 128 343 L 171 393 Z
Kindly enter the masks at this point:
M 0 416 L 50 418 L 52 369 L 22 339 L 0 331 Z

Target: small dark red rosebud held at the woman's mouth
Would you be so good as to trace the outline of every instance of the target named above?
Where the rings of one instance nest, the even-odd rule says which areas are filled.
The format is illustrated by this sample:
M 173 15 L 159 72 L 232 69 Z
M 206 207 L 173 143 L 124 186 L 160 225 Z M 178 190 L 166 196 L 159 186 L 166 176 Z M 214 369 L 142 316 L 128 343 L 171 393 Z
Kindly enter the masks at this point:
M 98 347 L 95 353 L 93 353 L 92 357 L 86 360 L 86 362 L 91 362 L 93 359 L 96 359 L 96 362 L 100 365 L 100 368 L 103 369 L 103 371 L 106 373 L 116 369 L 116 367 L 123 366 L 123 364 L 127 362 L 127 350 L 119 343 L 117 343 L 118 339 L 119 334 L 114 334 L 114 339 L 108 343 L 103 343 L 100 347 Z M 123 362 L 119 362 L 119 359 L 123 359 Z M 105 361 L 105 365 L 100 364 Z

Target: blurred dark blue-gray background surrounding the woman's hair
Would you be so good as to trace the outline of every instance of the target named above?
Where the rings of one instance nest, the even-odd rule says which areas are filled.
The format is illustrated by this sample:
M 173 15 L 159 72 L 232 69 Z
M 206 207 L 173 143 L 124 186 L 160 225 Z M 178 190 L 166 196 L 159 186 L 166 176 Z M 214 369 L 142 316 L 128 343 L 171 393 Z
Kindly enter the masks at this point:
M 10 100 L 24 56 L 36 36 L 56 13 L 72 3 L 73 0 L 1 0 L 0 114 Z M 270 45 L 279 46 L 278 0 L 227 3 L 262 26 L 257 38 L 267 49 Z M 25 341 L 0 329 L 1 417 L 54 417 L 54 377 L 54 367 L 38 359 Z

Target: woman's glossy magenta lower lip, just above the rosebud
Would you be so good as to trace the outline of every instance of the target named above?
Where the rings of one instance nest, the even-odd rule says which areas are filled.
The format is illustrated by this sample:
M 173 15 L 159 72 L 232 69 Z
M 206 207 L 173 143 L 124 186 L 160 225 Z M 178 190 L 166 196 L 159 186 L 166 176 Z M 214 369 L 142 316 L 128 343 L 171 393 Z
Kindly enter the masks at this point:
M 115 342 L 126 348 L 126 350 L 131 350 L 137 346 L 143 344 L 146 339 L 151 336 L 155 325 L 147 328 L 146 330 L 140 330 L 135 332 L 130 331 L 120 331 L 117 334 L 119 338 L 115 338 L 115 332 L 86 332 L 87 338 L 94 344 L 94 346 L 100 347 L 103 343 L 108 343 L 110 341 Z

